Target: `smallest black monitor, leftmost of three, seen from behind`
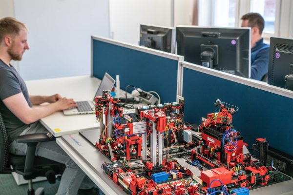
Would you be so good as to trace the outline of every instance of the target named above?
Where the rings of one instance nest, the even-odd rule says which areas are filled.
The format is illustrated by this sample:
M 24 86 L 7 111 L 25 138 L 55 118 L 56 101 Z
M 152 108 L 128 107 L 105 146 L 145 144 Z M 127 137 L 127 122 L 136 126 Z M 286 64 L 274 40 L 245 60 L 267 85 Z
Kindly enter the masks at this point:
M 175 54 L 175 28 L 140 25 L 139 45 Z

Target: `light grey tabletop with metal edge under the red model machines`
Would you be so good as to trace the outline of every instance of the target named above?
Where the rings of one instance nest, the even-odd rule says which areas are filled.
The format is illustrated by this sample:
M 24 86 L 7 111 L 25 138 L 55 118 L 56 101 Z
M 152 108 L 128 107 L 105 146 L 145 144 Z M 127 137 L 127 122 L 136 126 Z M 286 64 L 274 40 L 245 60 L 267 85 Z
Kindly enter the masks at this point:
M 109 162 L 108 158 L 87 142 L 84 137 L 73 134 L 59 137 L 56 140 L 106 195 L 126 195 L 101 168 L 104 162 Z M 293 195 L 293 179 L 250 191 L 250 195 L 261 194 Z

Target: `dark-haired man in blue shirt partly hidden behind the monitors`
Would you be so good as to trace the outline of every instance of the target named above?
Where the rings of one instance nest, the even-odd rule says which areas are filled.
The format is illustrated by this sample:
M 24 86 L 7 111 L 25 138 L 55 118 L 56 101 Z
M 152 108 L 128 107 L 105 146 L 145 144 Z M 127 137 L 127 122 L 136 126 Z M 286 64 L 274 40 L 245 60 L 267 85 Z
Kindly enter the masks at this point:
M 245 14 L 241 20 L 241 27 L 251 27 L 251 78 L 263 80 L 268 74 L 270 54 L 270 46 L 261 37 L 265 20 L 258 13 Z

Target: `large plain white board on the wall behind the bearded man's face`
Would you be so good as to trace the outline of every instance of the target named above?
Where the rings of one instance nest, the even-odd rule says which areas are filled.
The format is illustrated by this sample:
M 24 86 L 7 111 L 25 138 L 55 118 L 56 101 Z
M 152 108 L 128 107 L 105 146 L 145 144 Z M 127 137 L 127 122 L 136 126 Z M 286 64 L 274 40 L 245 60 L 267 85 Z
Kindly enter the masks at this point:
M 90 36 L 109 37 L 108 0 L 14 0 L 14 8 L 29 28 L 24 79 L 90 74 Z

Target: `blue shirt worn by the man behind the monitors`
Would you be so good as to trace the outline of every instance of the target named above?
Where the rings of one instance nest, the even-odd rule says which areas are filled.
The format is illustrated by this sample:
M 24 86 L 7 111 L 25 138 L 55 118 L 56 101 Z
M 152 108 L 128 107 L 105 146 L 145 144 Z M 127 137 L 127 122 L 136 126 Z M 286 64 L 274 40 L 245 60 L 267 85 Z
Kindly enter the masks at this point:
M 270 46 L 261 38 L 251 48 L 251 78 L 262 80 L 268 73 Z

